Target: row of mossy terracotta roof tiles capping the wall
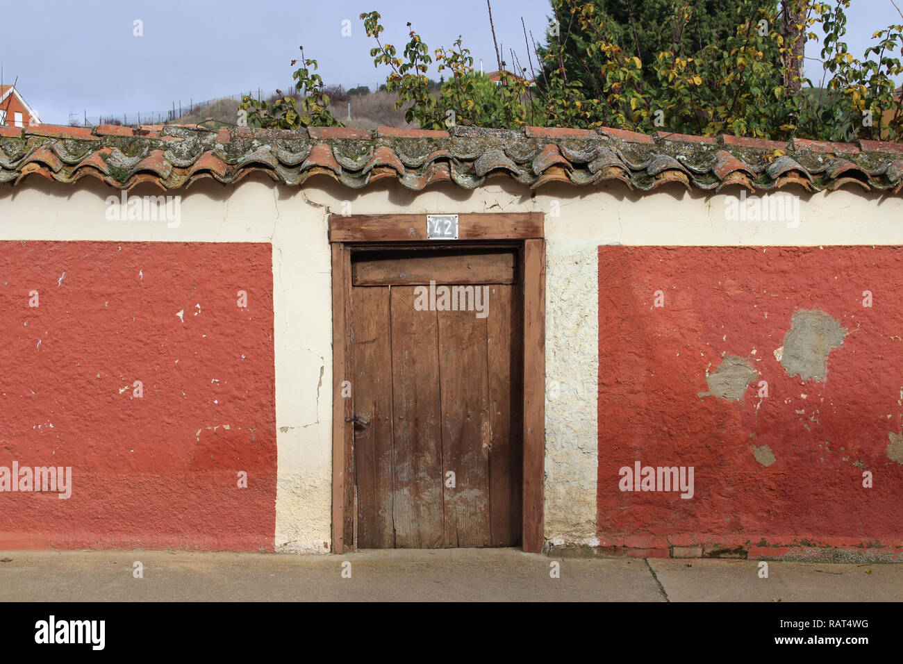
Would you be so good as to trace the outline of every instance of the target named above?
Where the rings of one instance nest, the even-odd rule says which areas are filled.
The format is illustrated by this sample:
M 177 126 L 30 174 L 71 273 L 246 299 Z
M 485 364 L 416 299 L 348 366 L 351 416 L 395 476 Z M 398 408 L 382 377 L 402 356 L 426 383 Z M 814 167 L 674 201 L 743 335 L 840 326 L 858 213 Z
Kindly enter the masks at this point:
M 776 157 L 776 150 L 784 154 Z M 508 177 L 532 189 L 552 182 L 598 186 L 619 181 L 640 191 L 677 182 L 703 191 L 801 186 L 898 194 L 903 191 L 900 154 L 903 145 L 878 141 L 797 139 L 787 145 L 737 136 L 647 136 L 605 127 L 455 126 L 445 132 L 42 125 L 0 129 L 0 182 L 22 182 L 33 174 L 70 183 L 90 176 L 117 188 L 154 182 L 170 190 L 206 179 L 240 182 L 252 175 L 303 186 L 326 175 L 351 189 L 396 180 L 420 191 L 437 182 L 473 189 L 489 177 Z

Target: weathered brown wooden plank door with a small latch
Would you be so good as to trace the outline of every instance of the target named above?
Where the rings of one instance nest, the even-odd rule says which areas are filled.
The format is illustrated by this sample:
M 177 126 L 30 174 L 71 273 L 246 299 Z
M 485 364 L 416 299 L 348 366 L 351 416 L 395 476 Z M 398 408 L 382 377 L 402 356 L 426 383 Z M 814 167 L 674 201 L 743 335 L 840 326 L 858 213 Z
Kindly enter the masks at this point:
M 358 547 L 519 544 L 518 275 L 513 249 L 352 256 Z

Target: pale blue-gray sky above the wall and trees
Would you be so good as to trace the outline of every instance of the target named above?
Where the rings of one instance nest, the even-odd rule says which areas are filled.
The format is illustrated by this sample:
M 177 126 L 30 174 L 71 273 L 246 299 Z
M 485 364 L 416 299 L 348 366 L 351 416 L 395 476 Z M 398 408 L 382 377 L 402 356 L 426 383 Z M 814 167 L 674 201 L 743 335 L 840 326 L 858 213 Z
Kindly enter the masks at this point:
M 384 41 L 399 53 L 410 21 L 431 51 L 462 34 L 477 66 L 482 59 L 487 71 L 496 69 L 485 0 L 0 0 L 3 82 L 18 77 L 18 89 L 45 123 L 67 124 L 70 113 L 81 117 L 86 110 L 88 117 L 146 116 L 164 113 L 173 101 L 186 106 L 190 98 L 286 89 L 295 69 L 289 62 L 303 45 L 327 84 L 372 88 L 386 79 L 373 66 L 374 43 L 358 19 L 372 9 L 383 16 Z M 538 42 L 551 14 L 548 0 L 493 0 L 492 9 L 498 40 L 521 58 L 521 17 Z M 133 34 L 136 19 L 142 37 Z M 853 0 L 849 19 L 847 42 L 856 56 L 876 30 L 903 21 L 890 0 Z M 344 20 L 351 22 L 348 37 Z M 817 51 L 810 44 L 807 55 Z M 811 63 L 807 74 L 821 79 Z

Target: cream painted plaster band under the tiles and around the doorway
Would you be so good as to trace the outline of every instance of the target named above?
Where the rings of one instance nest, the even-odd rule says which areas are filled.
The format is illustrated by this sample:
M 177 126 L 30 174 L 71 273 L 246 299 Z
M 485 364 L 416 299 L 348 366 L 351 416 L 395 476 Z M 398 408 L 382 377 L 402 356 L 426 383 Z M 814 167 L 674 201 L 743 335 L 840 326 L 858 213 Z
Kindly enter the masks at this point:
M 729 220 L 727 196 L 676 187 L 638 194 L 619 184 L 554 185 L 534 196 L 503 180 L 473 192 L 442 185 L 420 193 L 396 184 L 355 192 L 314 182 L 303 191 L 256 180 L 229 188 L 200 183 L 182 192 L 176 229 L 163 221 L 108 221 L 104 200 L 115 190 L 96 183 L 32 178 L 0 190 L 0 239 L 273 244 L 275 543 L 287 551 L 330 547 L 330 211 L 546 213 L 545 536 L 553 544 L 596 543 L 599 245 L 903 245 L 903 200 L 845 190 L 803 198 L 796 225 Z

